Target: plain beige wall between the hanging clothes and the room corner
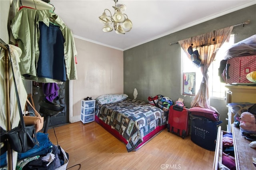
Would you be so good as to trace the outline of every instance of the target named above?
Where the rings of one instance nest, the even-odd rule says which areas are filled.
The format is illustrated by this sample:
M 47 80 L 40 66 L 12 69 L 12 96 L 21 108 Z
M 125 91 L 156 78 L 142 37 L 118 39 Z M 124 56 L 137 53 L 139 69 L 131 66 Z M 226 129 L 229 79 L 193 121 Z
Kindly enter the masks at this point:
M 123 51 L 75 38 L 78 80 L 72 80 L 70 123 L 80 121 L 81 99 L 124 91 Z M 72 113 L 73 110 L 73 113 Z

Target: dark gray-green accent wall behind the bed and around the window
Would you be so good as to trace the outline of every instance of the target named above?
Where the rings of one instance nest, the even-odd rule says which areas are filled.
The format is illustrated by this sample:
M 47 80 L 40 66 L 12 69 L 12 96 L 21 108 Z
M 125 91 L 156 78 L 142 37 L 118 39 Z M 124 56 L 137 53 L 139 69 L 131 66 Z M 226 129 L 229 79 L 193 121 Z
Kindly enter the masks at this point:
M 168 96 L 173 101 L 182 98 L 185 105 L 190 107 L 194 97 L 181 95 L 181 47 L 176 43 L 169 44 L 240 24 L 246 20 L 250 20 L 250 24 L 244 27 L 236 26 L 232 31 L 236 43 L 256 34 L 256 5 L 124 51 L 124 93 L 129 98 L 143 101 L 147 101 L 148 96 L 153 97 L 158 94 Z M 210 99 L 210 105 L 220 113 L 220 119 L 223 121 L 222 129 L 226 130 L 225 119 L 228 113 L 226 100 Z

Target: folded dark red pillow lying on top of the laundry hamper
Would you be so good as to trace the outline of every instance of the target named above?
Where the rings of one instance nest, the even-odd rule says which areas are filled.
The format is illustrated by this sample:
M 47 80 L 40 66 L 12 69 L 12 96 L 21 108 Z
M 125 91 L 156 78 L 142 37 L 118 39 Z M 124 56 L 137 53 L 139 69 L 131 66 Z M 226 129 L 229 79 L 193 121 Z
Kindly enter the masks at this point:
M 202 107 L 192 107 L 188 109 L 192 115 L 206 117 L 212 121 L 219 121 L 219 114 L 213 110 L 205 109 Z

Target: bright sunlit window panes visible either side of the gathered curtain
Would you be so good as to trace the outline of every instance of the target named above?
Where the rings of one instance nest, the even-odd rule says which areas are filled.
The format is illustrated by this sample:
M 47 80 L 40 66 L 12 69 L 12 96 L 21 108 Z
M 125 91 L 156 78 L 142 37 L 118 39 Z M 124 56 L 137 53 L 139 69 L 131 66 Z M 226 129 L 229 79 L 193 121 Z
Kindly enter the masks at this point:
M 218 68 L 220 66 L 220 61 L 224 59 L 226 56 L 226 51 L 229 49 L 231 45 L 234 44 L 234 34 L 230 35 L 229 42 L 225 42 L 222 47 L 218 50 L 215 60 L 212 62 L 208 69 L 208 76 L 209 76 L 209 95 L 213 98 L 221 98 L 223 99 L 226 96 L 226 87 L 225 83 L 220 82 L 220 77 L 218 76 Z M 181 49 L 182 50 L 182 49 Z M 196 49 L 193 49 L 193 51 Z M 195 72 L 196 73 L 196 93 L 200 88 L 200 84 L 202 82 L 202 73 L 200 68 L 196 67 L 188 59 L 186 53 L 182 50 L 182 73 L 186 72 Z

